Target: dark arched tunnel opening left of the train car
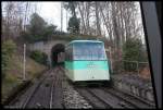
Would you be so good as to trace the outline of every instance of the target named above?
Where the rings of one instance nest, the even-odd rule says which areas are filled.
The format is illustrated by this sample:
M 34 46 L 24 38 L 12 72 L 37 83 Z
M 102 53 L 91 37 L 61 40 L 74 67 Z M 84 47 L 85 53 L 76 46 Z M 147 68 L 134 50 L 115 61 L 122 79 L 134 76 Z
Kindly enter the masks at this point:
M 51 49 L 51 65 L 63 65 L 64 64 L 64 45 L 58 44 Z

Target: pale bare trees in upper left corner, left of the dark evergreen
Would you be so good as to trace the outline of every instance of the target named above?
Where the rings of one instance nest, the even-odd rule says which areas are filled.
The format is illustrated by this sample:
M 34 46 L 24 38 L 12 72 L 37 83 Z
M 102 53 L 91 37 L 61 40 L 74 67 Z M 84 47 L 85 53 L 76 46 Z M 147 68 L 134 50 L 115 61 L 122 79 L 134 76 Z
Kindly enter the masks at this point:
M 29 10 L 32 3 L 29 2 L 3 2 L 3 37 L 16 38 L 21 35 L 22 30 L 25 30 L 27 20 L 32 13 Z

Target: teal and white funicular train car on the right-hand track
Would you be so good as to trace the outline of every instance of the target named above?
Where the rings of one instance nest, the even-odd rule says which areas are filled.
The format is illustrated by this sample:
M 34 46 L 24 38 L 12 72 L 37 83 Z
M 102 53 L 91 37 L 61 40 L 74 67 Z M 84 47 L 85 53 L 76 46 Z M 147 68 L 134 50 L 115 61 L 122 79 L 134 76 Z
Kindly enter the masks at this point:
M 73 40 L 65 48 L 65 74 L 73 82 L 110 81 L 104 42 Z

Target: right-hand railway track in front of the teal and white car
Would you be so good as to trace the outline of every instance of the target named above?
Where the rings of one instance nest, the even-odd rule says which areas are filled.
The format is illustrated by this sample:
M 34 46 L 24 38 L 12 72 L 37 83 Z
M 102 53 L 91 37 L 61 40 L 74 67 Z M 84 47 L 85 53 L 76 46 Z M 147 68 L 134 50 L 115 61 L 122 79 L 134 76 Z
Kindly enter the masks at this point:
M 143 101 L 117 91 L 113 88 L 103 87 L 75 87 L 75 89 L 93 106 L 93 108 L 154 108 L 151 105 L 145 103 Z

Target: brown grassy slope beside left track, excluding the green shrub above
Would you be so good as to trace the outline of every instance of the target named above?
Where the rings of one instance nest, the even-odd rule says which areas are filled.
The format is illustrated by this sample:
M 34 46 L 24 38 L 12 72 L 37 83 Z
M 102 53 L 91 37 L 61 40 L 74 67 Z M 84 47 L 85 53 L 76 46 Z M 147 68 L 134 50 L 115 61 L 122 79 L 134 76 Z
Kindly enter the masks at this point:
M 26 78 L 36 78 L 47 66 L 41 65 L 30 58 L 26 58 Z M 12 93 L 13 87 L 21 85 L 23 82 L 23 56 L 16 52 L 12 57 L 10 69 L 5 73 L 5 78 L 2 78 L 2 102 Z

